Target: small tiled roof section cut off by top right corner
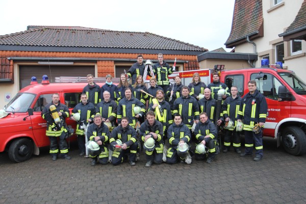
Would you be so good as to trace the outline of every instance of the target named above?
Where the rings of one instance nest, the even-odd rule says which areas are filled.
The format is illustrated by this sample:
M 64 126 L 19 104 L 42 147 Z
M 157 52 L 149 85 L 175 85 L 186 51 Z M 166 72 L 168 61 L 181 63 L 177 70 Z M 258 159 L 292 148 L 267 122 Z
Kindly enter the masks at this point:
M 306 0 L 303 1 L 294 21 L 289 25 L 286 31 L 279 36 L 287 36 L 301 30 L 306 30 Z

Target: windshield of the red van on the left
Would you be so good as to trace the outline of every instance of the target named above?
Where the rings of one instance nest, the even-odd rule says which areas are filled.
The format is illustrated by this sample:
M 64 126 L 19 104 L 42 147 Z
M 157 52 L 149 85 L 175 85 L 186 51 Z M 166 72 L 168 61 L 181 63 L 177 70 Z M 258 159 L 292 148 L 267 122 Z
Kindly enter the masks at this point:
M 5 110 L 12 113 L 24 113 L 28 111 L 33 100 L 34 94 L 31 93 L 17 93 L 17 95 L 6 105 Z

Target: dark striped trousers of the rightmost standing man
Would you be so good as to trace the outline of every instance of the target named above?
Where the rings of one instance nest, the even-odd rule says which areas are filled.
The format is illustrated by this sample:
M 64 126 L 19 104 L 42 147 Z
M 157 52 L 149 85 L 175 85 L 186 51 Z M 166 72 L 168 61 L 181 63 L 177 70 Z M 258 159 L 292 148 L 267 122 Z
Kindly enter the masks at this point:
M 252 131 L 244 131 L 245 136 L 245 153 L 252 154 L 253 153 L 253 142 L 255 143 L 256 155 L 263 156 L 263 134 L 255 134 Z

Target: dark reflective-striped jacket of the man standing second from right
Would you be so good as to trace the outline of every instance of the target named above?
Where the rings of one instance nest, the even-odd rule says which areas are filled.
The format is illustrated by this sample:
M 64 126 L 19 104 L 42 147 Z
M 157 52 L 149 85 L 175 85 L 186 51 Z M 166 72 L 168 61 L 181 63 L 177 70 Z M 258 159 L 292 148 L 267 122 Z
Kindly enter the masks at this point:
M 232 96 L 227 97 L 222 105 L 223 118 L 231 118 L 231 120 L 234 122 L 234 127 L 236 127 L 237 125 L 237 117 L 240 106 L 241 97 L 238 95 L 236 96 L 236 98 L 233 98 Z M 228 130 L 233 131 L 234 127 Z

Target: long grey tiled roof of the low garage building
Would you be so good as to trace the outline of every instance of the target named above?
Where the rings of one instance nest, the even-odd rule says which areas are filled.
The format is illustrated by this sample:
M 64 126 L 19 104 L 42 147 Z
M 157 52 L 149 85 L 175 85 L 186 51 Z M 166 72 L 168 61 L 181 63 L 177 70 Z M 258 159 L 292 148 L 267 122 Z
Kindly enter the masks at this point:
M 73 29 L 39 27 L 34 30 L 2 35 L 0 45 L 207 51 L 203 47 L 148 32 L 70 28 Z

